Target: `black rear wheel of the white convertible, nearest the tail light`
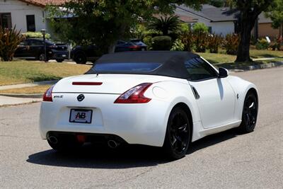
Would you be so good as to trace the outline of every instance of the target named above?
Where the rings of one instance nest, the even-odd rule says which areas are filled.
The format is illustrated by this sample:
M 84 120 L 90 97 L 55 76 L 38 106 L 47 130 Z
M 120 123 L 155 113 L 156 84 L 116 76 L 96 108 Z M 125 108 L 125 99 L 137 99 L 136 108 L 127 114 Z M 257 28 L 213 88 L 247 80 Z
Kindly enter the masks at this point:
M 170 159 L 180 159 L 190 144 L 190 120 L 185 110 L 173 108 L 169 115 L 163 149 Z

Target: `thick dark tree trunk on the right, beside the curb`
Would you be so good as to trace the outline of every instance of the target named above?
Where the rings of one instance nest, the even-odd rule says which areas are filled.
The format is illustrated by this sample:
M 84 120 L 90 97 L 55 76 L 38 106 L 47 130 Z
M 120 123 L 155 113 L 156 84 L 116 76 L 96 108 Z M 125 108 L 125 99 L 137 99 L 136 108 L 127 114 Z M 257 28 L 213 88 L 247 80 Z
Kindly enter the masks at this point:
M 241 13 L 241 28 L 240 28 L 240 45 L 238 46 L 238 55 L 236 62 L 252 62 L 250 59 L 250 36 L 255 20 L 258 19 L 258 14 Z

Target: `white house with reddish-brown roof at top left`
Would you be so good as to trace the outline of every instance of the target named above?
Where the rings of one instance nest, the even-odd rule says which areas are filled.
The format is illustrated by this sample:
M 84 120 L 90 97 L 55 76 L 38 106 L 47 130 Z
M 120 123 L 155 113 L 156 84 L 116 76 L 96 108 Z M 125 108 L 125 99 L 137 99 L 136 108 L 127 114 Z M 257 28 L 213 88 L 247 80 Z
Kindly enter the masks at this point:
M 27 31 L 47 29 L 47 4 L 62 4 L 65 0 L 0 0 L 0 27 Z

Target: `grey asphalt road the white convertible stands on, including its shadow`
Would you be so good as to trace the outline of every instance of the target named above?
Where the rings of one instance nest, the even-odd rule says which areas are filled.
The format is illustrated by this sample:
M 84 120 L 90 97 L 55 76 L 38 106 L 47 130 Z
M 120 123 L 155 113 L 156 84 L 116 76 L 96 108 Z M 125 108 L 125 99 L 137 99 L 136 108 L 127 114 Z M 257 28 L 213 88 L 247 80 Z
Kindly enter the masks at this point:
M 40 139 L 40 103 L 0 108 L 0 188 L 282 188 L 283 67 L 234 75 L 258 86 L 255 132 L 205 137 L 178 161 L 151 147 L 58 154 Z

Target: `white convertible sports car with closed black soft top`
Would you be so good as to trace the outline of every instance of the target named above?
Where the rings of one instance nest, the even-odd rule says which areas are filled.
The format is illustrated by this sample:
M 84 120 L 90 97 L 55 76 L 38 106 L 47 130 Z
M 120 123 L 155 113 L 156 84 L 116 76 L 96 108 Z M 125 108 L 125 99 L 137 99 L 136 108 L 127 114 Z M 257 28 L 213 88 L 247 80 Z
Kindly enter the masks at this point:
M 228 74 L 190 52 L 104 55 L 86 74 L 45 92 L 40 134 L 56 150 L 84 142 L 144 144 L 179 159 L 208 134 L 253 132 L 257 88 Z

